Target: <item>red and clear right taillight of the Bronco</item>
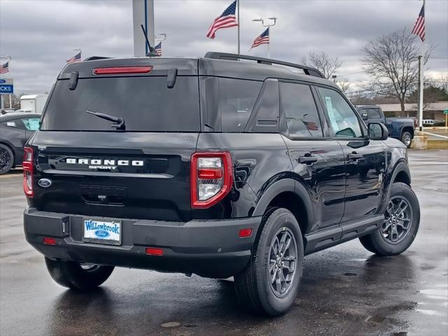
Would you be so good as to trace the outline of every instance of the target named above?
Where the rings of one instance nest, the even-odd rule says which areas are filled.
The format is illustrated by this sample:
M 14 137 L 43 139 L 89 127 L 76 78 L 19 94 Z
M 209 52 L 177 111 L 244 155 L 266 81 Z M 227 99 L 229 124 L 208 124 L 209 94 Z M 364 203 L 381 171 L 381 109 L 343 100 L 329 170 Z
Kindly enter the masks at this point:
M 233 168 L 230 153 L 191 155 L 191 207 L 209 208 L 223 200 L 232 188 Z

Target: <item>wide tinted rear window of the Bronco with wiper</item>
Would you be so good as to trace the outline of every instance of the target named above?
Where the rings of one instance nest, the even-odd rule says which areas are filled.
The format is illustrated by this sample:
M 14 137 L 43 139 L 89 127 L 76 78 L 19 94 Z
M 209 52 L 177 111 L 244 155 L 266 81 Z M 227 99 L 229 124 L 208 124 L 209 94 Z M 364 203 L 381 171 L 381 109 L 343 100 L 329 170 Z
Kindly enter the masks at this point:
M 198 132 L 198 80 L 178 76 L 169 89 L 165 76 L 80 78 L 75 90 L 69 90 L 69 80 L 58 80 L 41 130 L 115 130 L 111 121 L 86 110 L 124 118 L 126 131 Z

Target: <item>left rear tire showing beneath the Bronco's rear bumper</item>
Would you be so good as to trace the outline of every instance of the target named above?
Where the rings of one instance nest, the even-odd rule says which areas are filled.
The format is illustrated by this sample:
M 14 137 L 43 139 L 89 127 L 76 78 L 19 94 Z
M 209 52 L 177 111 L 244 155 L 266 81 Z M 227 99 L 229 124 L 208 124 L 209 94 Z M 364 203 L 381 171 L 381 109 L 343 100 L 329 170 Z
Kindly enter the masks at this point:
M 106 281 L 113 266 L 91 265 L 83 268 L 78 262 L 51 260 L 45 257 L 45 265 L 53 280 L 59 285 L 74 290 L 92 290 Z

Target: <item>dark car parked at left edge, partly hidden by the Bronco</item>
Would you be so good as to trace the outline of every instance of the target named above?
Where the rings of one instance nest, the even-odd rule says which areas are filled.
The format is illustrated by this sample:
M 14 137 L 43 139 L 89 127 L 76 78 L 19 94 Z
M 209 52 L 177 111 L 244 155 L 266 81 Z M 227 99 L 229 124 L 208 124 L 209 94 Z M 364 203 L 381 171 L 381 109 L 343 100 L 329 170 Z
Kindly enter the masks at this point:
M 41 115 L 8 113 L 0 116 L 0 174 L 22 165 L 23 146 L 38 130 Z

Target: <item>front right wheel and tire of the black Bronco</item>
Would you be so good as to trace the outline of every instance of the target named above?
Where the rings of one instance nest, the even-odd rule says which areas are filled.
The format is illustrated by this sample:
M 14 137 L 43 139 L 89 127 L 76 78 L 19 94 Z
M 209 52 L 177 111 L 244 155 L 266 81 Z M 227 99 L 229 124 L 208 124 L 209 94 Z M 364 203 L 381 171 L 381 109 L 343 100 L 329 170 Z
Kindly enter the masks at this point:
M 403 253 L 411 246 L 419 231 L 420 206 L 414 191 L 407 184 L 401 182 L 393 183 L 391 188 L 384 223 L 379 230 L 359 239 L 368 251 L 377 255 L 386 256 Z M 391 202 L 395 204 L 395 207 L 391 207 Z M 398 204 L 402 204 L 400 206 L 402 214 L 395 216 L 393 210 L 400 211 L 397 207 Z M 403 210 L 403 208 L 405 209 Z M 409 221 L 404 221 L 405 216 Z M 405 224 L 407 222 L 409 224 Z M 406 225 L 407 230 L 405 230 Z

